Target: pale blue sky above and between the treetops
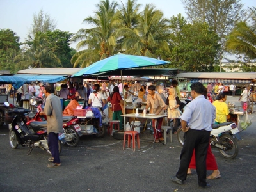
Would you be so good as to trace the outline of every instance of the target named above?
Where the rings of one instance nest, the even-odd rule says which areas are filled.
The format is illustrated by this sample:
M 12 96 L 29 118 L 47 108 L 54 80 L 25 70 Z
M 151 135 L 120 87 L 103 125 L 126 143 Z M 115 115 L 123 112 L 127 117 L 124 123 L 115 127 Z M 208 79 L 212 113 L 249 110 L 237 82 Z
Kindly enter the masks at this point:
M 115 0 L 120 3 L 120 0 Z M 126 0 L 122 0 L 124 3 Z M 0 29 L 11 29 L 24 42 L 33 23 L 33 14 L 41 9 L 49 13 L 57 22 L 56 29 L 76 33 L 81 28 L 87 28 L 83 20 L 93 16 L 100 0 L 0 0 Z M 163 11 L 164 16 L 170 19 L 179 13 L 186 17 L 184 6 L 180 0 L 138 0 L 138 3 L 152 3 Z M 255 0 L 241 0 L 244 8 L 256 7 Z M 76 44 L 71 45 L 76 48 Z

